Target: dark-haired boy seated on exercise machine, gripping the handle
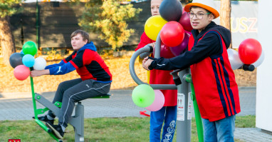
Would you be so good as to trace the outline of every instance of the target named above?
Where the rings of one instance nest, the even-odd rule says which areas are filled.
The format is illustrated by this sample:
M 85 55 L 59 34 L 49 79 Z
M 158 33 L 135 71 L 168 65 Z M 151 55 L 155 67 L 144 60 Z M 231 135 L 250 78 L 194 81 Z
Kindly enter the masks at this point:
M 86 31 L 74 31 L 71 34 L 71 44 L 74 50 L 73 54 L 70 54 L 59 64 L 46 66 L 46 69 L 41 71 L 31 71 L 32 77 L 62 75 L 75 70 L 80 75 L 80 78 L 63 81 L 58 85 L 53 98 L 53 103 L 62 102 L 58 125 L 53 125 L 56 116 L 52 111 L 48 111 L 46 116 L 38 117 L 39 120 L 46 122 L 46 126 L 51 128 L 53 134 L 59 139 L 63 138 L 75 102 L 108 93 L 112 82 L 112 74 L 108 66 L 96 52 L 93 42 L 89 41 L 89 34 Z

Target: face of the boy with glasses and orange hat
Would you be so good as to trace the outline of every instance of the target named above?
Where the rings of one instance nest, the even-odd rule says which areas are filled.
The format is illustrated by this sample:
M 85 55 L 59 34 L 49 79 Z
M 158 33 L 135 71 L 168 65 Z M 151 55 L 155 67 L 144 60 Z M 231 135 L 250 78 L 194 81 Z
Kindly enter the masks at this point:
M 201 7 L 192 7 L 190 13 L 191 16 L 194 15 L 190 17 L 191 25 L 193 29 L 199 30 L 199 33 L 214 19 L 213 14 L 208 14 L 206 9 L 202 9 Z

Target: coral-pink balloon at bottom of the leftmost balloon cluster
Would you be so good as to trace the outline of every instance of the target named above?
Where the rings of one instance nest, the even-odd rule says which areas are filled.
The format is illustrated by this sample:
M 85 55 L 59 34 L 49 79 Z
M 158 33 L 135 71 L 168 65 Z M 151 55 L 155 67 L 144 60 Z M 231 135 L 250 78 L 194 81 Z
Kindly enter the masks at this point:
M 30 70 L 28 67 L 24 65 L 16 66 L 16 68 L 14 69 L 14 76 L 19 81 L 25 80 L 26 78 L 28 78 L 29 75 L 30 75 Z

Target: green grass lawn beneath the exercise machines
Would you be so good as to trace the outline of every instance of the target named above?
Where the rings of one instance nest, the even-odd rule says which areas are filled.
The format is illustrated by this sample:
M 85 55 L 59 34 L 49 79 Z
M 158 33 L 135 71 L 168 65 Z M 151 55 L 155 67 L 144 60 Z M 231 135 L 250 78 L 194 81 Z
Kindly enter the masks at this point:
M 150 118 L 85 118 L 85 142 L 149 141 Z M 236 117 L 236 127 L 255 127 L 255 116 Z M 53 138 L 34 121 L 0 121 L 0 141 L 18 138 L 22 142 L 49 142 Z M 177 133 L 175 133 L 177 135 Z M 176 141 L 174 136 L 174 141 Z M 63 141 L 74 141 L 73 127 L 68 126 Z M 192 119 L 192 141 L 198 141 L 197 128 Z M 239 140 L 236 140 L 241 142 Z

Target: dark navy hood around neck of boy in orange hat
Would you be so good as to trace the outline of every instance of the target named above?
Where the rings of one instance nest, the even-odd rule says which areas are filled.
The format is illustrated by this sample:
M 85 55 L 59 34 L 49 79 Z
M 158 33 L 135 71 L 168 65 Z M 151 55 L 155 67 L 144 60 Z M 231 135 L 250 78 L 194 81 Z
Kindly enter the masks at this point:
M 214 21 L 211 21 L 211 23 L 208 26 L 206 26 L 206 28 L 202 30 L 200 33 L 197 29 L 193 29 L 192 35 L 194 36 L 194 39 L 199 40 L 207 31 L 210 30 L 218 31 L 221 34 L 226 44 L 226 49 L 228 49 L 229 46 L 231 45 L 231 31 L 229 31 L 229 29 L 226 29 L 224 26 L 215 24 Z

